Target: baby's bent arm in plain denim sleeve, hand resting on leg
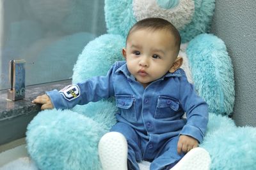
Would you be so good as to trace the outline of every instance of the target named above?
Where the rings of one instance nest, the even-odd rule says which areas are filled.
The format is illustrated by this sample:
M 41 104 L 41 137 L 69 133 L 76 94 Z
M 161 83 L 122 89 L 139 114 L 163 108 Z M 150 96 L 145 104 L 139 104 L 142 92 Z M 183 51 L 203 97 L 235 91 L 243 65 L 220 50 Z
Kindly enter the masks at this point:
M 194 86 L 185 76 L 180 78 L 180 102 L 186 112 L 187 122 L 180 132 L 177 146 L 179 153 L 188 152 L 202 143 L 209 117 L 207 103 L 196 94 Z

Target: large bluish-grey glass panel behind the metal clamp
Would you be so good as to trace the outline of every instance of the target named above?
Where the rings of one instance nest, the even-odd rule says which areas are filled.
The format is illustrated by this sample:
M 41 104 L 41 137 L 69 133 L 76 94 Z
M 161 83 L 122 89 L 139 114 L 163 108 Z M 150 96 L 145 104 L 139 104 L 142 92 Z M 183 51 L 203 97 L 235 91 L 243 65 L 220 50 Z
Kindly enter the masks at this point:
M 84 46 L 106 33 L 103 0 L 0 0 L 0 90 L 9 62 L 26 60 L 26 85 L 66 80 Z

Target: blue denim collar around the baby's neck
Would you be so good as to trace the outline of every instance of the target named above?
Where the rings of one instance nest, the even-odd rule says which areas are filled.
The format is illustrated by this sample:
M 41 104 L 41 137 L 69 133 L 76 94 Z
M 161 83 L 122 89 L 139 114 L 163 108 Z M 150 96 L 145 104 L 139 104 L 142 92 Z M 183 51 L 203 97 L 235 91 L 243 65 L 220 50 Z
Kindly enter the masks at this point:
M 122 65 L 122 66 L 120 66 L 118 69 L 116 69 L 115 73 L 122 72 L 122 73 L 124 73 L 124 75 L 127 78 L 132 78 L 132 79 L 135 80 L 134 76 L 128 71 L 126 62 L 125 61 L 120 62 L 120 65 Z M 164 79 L 166 77 L 180 77 L 180 76 L 182 76 L 184 74 L 185 74 L 184 70 L 179 68 L 174 73 L 168 72 L 168 73 L 164 74 L 164 76 L 162 78 L 160 78 L 160 79 Z

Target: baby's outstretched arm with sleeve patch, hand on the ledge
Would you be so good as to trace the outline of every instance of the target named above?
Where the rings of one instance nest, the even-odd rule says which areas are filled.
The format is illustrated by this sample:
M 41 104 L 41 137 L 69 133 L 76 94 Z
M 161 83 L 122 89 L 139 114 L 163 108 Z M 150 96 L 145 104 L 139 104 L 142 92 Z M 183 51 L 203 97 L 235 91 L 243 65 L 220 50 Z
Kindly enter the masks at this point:
M 73 108 L 77 104 L 82 105 L 103 98 L 108 99 L 114 96 L 113 74 L 116 69 L 118 69 L 118 62 L 113 64 L 106 76 L 95 76 L 82 83 L 68 85 L 60 91 L 51 90 L 42 96 L 36 97 L 32 103 L 42 104 L 42 110 L 52 108 L 64 110 Z

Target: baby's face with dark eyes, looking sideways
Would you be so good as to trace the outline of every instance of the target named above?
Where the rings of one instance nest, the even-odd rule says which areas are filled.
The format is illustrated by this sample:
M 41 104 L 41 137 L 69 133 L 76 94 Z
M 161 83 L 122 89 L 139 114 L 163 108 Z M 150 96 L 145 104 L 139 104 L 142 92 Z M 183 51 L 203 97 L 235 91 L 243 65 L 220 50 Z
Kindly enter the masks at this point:
M 165 30 L 131 32 L 123 54 L 128 70 L 143 87 L 166 74 L 177 59 L 174 38 Z

